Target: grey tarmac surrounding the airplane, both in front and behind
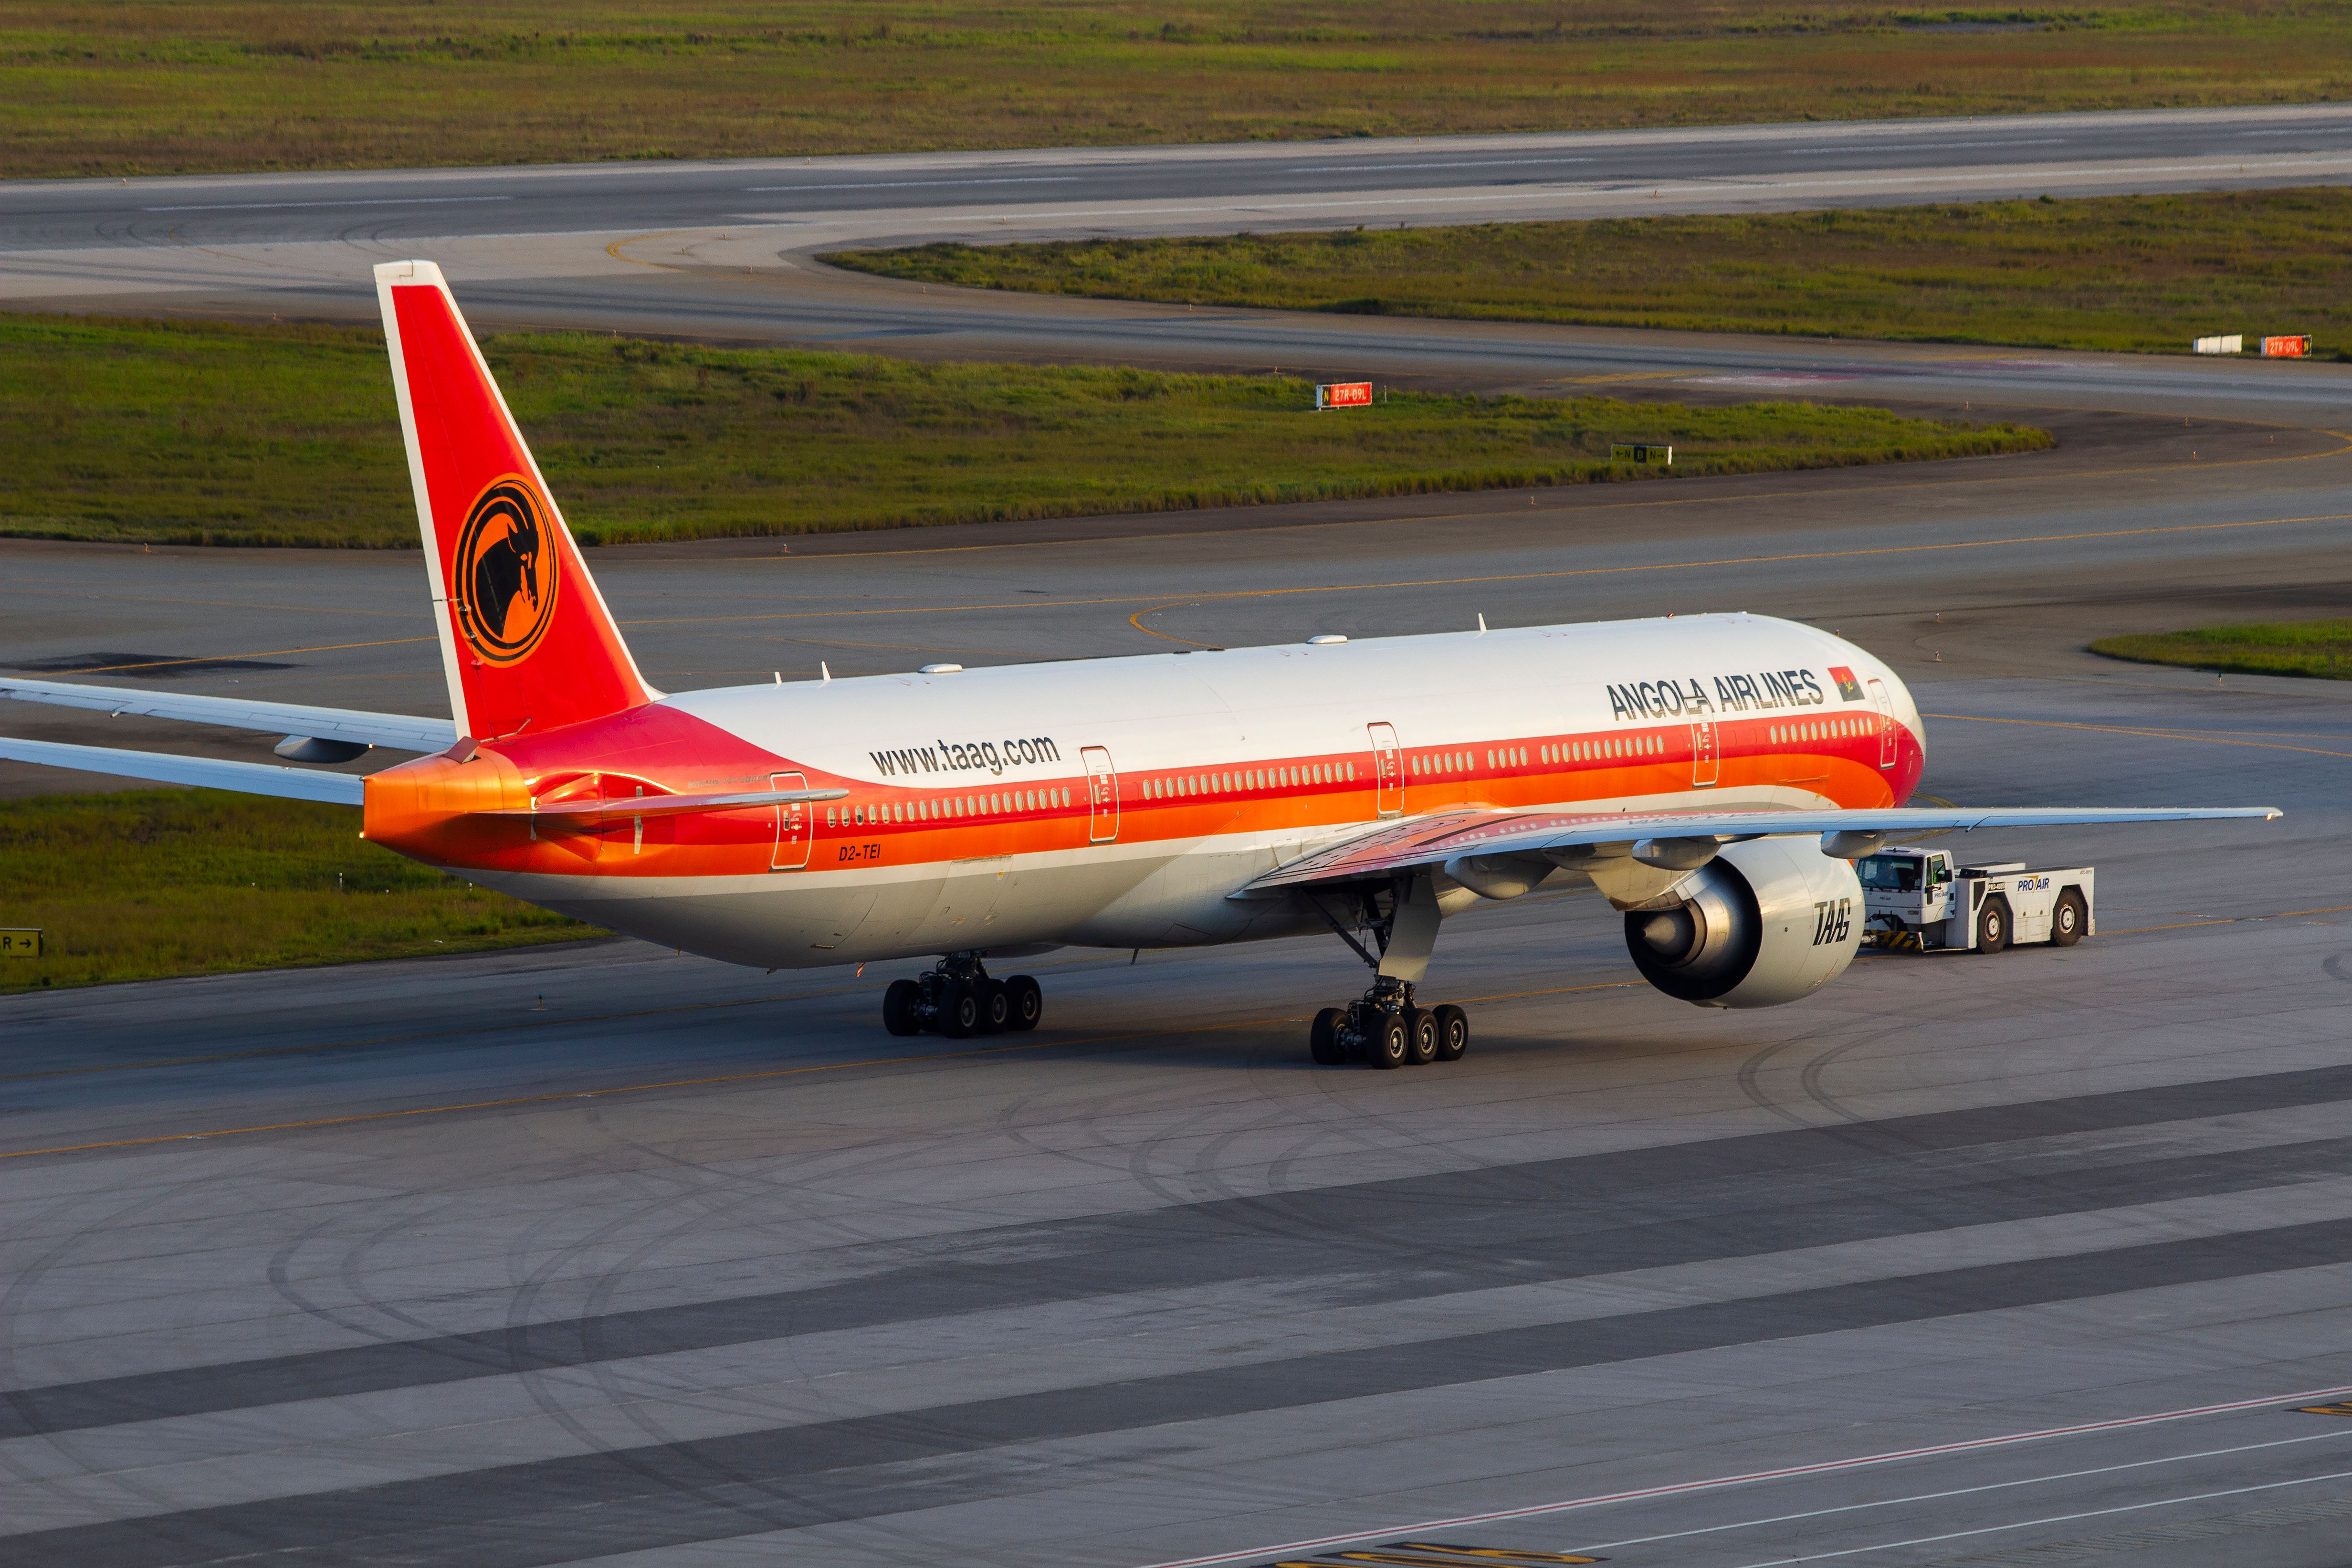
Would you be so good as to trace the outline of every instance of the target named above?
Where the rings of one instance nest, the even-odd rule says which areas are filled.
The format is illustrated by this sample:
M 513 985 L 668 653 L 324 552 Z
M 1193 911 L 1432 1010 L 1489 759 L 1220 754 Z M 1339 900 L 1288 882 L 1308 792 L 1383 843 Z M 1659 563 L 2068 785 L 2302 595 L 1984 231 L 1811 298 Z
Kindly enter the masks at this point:
M 1661 386 L 1806 369 L 1689 353 Z M 1964 839 L 2093 863 L 2098 936 L 1743 1016 L 1590 893 L 1479 907 L 1428 987 L 1470 1056 L 1395 1074 L 1305 1063 L 1329 940 L 1051 954 L 976 1048 L 882 1037 L 913 966 L 633 943 L 0 999 L 0 1556 L 2340 1563 L 2352 1415 L 2298 1406 L 2352 1399 L 2352 689 L 2084 642 L 2352 616 L 2345 374 L 1839 355 L 1809 395 L 2060 447 L 590 564 L 670 689 L 1804 616 L 1912 682 L 1926 795 L 2284 820 Z M 414 555 L 0 559 L 7 668 L 445 712 Z

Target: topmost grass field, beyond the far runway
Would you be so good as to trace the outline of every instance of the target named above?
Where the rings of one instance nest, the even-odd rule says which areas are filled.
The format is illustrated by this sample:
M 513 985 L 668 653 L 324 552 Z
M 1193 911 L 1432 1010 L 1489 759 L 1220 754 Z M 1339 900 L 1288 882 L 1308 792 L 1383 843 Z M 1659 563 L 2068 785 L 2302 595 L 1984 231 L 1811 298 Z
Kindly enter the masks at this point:
M 2352 0 L 0 5 L 0 176 L 2284 103 Z

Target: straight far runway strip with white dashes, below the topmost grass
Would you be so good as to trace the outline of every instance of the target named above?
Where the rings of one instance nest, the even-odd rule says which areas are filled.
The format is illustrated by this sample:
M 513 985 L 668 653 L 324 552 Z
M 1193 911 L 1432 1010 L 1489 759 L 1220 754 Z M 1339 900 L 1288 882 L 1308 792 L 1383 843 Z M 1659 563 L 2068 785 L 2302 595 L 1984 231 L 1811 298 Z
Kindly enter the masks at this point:
M 1082 221 L 1077 205 L 1562 190 L 1712 183 L 1820 205 L 1839 176 L 1863 195 L 1938 186 L 2030 190 L 2131 169 L 2171 188 L 2326 183 L 2352 158 L 2352 106 L 1797 122 L 1534 136 L 1037 148 L 875 158 L 595 162 L 492 169 L 80 179 L 0 186 L 0 252 L 75 244 L 242 244 L 713 228 L 816 214 L 971 207 L 1023 223 Z M 2178 165 L 2178 167 L 2166 167 Z M 2317 181 L 2314 181 L 2317 176 Z M 2023 181 L 2023 183 L 2020 183 Z M 1910 183 L 1912 190 L 1903 190 Z M 1813 195 L 1799 195 L 1813 190 Z M 1519 195 L 1512 195 L 1519 193 Z M 1677 197 L 1686 200 L 1686 197 Z M 1190 214 L 1164 214 L 1190 216 Z M 1383 219 L 1395 214 L 1383 212 Z M 1312 216 L 1308 221 L 1315 221 Z M 1350 219 L 1355 221 L 1355 219 Z

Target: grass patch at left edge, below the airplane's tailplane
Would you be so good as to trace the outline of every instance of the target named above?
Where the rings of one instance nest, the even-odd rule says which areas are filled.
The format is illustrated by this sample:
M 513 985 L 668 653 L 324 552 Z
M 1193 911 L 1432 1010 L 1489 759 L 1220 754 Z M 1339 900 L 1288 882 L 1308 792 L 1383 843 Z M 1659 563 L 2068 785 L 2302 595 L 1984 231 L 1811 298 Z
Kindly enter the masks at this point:
M 597 936 L 360 839 L 360 813 L 216 790 L 0 802 L 0 992 Z

